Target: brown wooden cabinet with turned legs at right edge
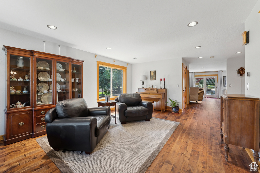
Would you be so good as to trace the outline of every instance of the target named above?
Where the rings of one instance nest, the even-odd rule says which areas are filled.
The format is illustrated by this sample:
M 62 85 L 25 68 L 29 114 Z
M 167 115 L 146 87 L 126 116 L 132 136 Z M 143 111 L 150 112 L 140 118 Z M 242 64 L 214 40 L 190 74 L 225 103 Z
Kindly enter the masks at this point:
M 225 142 L 228 161 L 229 144 L 254 149 L 254 161 L 259 154 L 259 98 L 243 94 L 221 94 L 221 143 Z M 223 137 L 224 136 L 224 137 Z

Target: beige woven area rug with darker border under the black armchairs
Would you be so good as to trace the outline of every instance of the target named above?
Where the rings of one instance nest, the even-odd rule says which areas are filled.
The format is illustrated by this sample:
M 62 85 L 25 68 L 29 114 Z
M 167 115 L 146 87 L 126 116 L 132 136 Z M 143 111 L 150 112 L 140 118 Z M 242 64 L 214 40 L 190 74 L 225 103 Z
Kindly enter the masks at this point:
M 152 118 L 121 124 L 111 119 L 110 129 L 90 155 L 81 151 L 54 151 L 46 136 L 36 139 L 61 172 L 145 172 L 179 122 Z

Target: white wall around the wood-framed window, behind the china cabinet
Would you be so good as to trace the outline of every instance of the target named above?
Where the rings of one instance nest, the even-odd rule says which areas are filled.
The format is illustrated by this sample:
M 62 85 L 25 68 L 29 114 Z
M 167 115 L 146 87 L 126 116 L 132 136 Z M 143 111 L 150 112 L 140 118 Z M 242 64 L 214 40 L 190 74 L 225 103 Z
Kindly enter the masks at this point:
M 0 29 L 0 46 L 6 45 L 11 47 L 17 47 L 27 50 L 35 50 L 43 52 L 43 41 L 46 41 L 46 53 L 59 54 L 58 45 L 59 43 L 52 43 L 48 40 L 42 40 L 16 32 L 11 32 L 8 30 Z M 122 61 L 116 60 L 115 63 L 113 59 L 99 56 L 95 58 L 93 53 L 85 52 L 82 50 L 74 49 L 72 47 L 67 47 L 61 45 L 60 47 L 61 56 L 72 57 L 75 59 L 85 60 L 83 63 L 83 98 L 87 101 L 89 107 L 97 107 L 97 65 L 96 61 L 102 61 L 106 63 L 116 64 L 120 66 L 127 67 L 127 93 L 132 92 L 132 65 L 127 64 Z M 0 81 L 2 82 L 2 89 L 0 90 L 0 135 L 4 135 L 5 126 L 5 114 L 4 109 L 6 109 L 6 56 L 5 52 L 0 50 Z M 5 98 L 5 99 L 4 99 Z M 10 106 L 10 105 L 7 105 Z

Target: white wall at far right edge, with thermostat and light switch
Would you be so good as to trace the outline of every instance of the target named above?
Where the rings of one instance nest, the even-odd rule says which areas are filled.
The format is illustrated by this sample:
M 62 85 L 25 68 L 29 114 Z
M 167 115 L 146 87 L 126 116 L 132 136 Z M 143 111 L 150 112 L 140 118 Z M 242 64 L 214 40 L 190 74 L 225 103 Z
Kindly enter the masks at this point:
M 245 21 L 245 31 L 249 33 L 249 44 L 245 45 L 245 72 L 250 72 L 250 77 L 245 77 L 245 86 L 249 83 L 249 90 L 245 87 L 245 94 L 260 98 L 259 66 L 260 66 L 260 0 Z

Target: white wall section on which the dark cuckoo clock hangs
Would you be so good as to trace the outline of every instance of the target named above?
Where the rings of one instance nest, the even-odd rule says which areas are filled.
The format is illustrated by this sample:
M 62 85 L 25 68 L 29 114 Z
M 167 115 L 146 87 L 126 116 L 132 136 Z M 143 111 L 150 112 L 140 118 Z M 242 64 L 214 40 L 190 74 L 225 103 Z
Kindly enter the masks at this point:
M 245 68 L 245 58 L 227 59 L 227 94 L 245 94 L 245 74 L 237 73 L 240 67 Z

